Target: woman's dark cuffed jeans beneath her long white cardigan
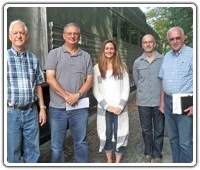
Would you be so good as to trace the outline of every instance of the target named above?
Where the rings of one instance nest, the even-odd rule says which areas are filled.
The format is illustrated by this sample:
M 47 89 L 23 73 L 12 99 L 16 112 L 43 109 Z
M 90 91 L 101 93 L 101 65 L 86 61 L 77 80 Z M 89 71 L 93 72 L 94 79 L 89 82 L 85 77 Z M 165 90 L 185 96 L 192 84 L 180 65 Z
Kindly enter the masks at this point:
M 112 152 L 113 143 L 112 136 L 114 133 L 115 141 L 117 141 L 117 128 L 118 128 L 118 115 L 115 115 L 109 111 L 106 111 L 106 144 L 105 152 Z M 118 150 L 115 149 L 115 154 L 122 155 L 124 153 L 125 147 L 121 146 Z

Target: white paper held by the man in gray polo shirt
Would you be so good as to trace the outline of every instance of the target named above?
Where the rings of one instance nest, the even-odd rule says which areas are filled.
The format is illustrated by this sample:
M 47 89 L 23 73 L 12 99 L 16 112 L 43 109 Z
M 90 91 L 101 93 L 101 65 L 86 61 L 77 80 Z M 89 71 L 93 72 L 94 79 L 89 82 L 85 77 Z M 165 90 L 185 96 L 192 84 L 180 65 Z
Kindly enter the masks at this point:
M 78 104 L 75 106 L 68 105 L 66 103 L 66 110 L 74 110 L 74 109 L 82 109 L 82 108 L 89 108 L 89 97 L 82 98 L 78 101 Z

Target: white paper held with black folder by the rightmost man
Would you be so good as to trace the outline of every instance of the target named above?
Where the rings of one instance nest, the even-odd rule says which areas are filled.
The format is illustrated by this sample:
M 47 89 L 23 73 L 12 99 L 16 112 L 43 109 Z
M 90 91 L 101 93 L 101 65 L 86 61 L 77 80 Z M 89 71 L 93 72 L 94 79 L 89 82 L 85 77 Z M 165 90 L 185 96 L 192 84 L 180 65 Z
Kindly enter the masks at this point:
M 181 97 L 192 96 L 192 93 L 177 93 L 172 95 L 173 114 L 182 114 Z

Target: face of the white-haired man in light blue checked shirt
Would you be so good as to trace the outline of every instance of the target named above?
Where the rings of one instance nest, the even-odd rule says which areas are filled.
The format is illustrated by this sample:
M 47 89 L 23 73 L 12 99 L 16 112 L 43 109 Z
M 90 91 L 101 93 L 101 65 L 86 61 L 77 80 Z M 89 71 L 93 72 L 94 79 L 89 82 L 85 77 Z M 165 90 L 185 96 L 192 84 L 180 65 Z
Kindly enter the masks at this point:
M 184 45 L 185 37 L 180 29 L 172 29 L 168 34 L 168 42 L 170 47 L 178 52 Z

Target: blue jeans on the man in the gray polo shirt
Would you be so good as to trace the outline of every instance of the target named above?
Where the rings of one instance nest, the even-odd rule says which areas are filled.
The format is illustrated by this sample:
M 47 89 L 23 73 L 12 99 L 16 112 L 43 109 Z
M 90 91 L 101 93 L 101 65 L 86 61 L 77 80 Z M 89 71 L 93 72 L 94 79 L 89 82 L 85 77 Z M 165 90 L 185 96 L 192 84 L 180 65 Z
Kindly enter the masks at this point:
M 88 109 L 66 111 L 66 109 L 49 108 L 51 129 L 51 162 L 64 163 L 64 140 L 67 127 L 70 128 L 74 145 L 74 162 L 88 163 L 88 144 L 86 141 Z

